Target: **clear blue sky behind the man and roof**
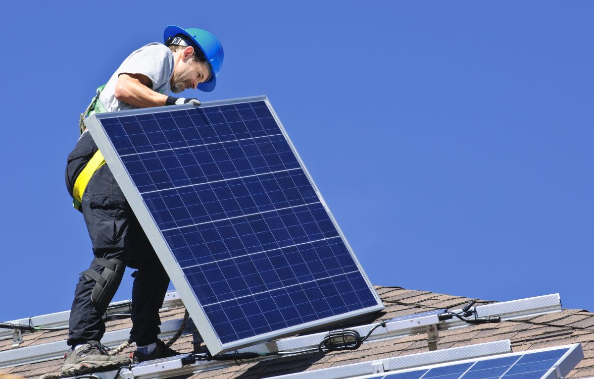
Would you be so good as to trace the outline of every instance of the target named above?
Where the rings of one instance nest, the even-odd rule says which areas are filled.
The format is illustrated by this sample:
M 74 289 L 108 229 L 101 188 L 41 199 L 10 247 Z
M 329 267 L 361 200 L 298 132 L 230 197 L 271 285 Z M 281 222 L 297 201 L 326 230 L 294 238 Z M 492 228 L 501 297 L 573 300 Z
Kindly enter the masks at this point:
M 169 24 L 225 47 L 188 96 L 268 95 L 374 284 L 594 311 L 594 2 L 64 4 L 0 12 L 0 321 L 69 309 L 78 115 Z

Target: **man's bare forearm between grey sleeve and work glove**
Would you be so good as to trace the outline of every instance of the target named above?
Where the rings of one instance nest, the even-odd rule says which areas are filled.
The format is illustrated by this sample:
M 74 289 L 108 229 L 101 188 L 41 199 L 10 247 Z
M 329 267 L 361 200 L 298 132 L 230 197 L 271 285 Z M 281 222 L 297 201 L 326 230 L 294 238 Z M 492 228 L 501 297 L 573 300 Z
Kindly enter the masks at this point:
M 167 96 L 151 90 L 153 83 L 143 74 L 120 74 L 115 86 L 116 99 L 129 105 L 147 108 L 163 106 Z

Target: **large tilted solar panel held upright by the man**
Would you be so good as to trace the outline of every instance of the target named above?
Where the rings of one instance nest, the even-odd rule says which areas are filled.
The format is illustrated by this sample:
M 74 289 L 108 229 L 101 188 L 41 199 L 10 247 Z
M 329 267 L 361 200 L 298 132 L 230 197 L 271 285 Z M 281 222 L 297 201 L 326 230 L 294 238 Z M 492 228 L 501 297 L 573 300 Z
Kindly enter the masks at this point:
M 211 353 L 383 308 L 265 96 L 85 123 Z

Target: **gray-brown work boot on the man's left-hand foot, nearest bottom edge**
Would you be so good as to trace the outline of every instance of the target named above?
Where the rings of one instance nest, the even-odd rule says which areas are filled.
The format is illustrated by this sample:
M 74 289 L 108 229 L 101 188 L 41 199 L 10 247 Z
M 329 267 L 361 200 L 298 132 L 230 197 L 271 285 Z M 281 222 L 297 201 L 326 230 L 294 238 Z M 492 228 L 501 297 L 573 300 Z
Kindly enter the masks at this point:
M 62 365 L 62 375 L 65 377 L 108 371 L 130 363 L 128 357 L 108 355 L 107 349 L 97 341 L 89 341 L 76 350 L 69 349 L 65 358 Z

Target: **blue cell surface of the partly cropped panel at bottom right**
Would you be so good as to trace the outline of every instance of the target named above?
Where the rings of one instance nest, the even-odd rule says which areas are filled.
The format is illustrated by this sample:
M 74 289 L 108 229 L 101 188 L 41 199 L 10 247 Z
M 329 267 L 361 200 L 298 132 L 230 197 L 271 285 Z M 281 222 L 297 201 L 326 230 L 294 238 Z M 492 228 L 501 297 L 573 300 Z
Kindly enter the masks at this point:
M 381 374 L 378 379 L 540 379 L 569 348 L 451 364 L 431 369 Z

